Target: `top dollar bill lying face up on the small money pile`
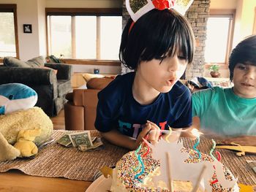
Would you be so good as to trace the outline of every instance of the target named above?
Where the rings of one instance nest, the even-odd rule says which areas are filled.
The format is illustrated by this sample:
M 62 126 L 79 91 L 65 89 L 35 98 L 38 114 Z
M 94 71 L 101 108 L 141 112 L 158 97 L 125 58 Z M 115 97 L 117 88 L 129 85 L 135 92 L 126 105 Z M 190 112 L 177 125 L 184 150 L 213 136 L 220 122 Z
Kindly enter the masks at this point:
M 90 131 L 80 131 L 68 135 L 74 147 L 78 147 L 79 145 L 86 145 L 91 147 L 93 145 Z

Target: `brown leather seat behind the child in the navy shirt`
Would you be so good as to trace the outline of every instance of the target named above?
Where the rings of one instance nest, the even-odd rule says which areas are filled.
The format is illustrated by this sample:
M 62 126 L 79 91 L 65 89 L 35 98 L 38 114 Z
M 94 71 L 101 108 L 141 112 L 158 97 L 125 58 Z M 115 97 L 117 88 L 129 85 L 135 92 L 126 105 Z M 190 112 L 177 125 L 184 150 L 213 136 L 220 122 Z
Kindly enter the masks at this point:
M 113 77 L 91 78 L 86 85 L 68 93 L 64 104 L 66 130 L 92 130 L 98 103 L 97 93 L 105 88 Z

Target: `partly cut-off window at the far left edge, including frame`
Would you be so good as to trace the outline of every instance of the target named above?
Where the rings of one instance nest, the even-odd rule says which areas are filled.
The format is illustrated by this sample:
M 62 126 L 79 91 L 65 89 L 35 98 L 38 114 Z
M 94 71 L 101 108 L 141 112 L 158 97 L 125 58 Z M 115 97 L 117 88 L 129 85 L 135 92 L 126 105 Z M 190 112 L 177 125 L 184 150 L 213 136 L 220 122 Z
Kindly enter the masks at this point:
M 18 58 L 16 4 L 1 4 L 0 20 L 0 58 Z

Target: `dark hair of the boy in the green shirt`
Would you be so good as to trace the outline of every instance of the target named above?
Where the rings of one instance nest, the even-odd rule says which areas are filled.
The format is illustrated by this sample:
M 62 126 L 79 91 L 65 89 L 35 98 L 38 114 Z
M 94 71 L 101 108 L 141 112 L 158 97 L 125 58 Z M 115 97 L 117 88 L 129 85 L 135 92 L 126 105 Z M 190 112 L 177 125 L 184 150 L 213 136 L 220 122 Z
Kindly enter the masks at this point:
M 233 80 L 236 64 L 249 62 L 256 66 L 256 35 L 246 37 L 232 50 L 229 58 L 230 80 Z

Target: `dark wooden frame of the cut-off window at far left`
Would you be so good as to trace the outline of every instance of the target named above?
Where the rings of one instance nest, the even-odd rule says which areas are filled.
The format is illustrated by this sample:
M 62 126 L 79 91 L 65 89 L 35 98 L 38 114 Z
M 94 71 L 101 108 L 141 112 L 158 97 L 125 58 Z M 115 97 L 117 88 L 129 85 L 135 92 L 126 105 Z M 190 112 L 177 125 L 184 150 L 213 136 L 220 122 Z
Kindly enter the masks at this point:
M 0 12 L 13 12 L 14 31 L 15 31 L 15 50 L 16 58 L 20 58 L 19 44 L 18 44 L 18 21 L 17 21 L 17 4 L 0 4 Z M 0 58 L 2 63 L 4 58 Z

